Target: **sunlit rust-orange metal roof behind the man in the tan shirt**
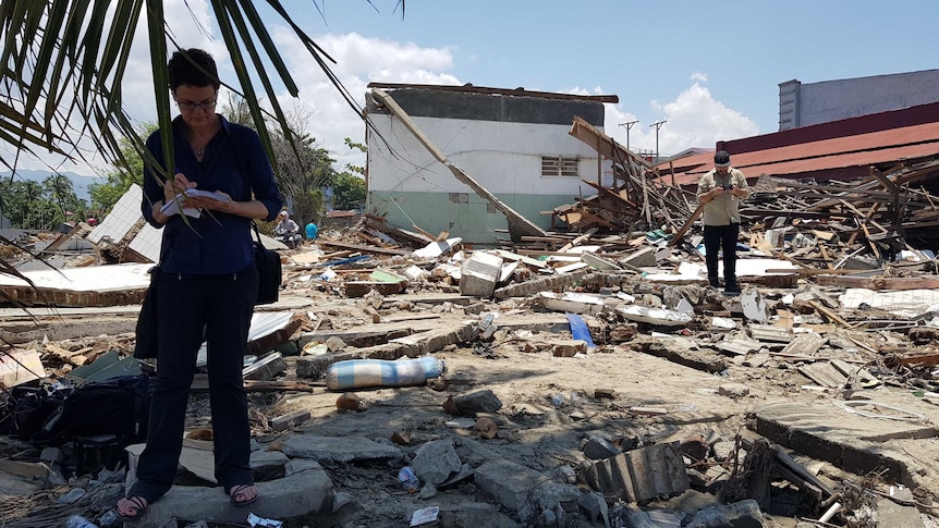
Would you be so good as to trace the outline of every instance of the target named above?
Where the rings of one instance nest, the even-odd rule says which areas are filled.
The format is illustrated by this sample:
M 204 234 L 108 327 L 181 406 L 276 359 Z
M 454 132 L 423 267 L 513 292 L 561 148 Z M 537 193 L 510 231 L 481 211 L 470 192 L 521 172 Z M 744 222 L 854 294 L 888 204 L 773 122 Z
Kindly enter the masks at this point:
M 731 163 L 755 180 L 761 174 L 809 175 L 819 171 L 839 171 L 839 175 L 867 175 L 867 168 L 906 159 L 939 155 L 939 123 L 926 123 L 888 131 L 789 145 L 753 152 L 731 152 Z M 714 167 L 710 152 L 673 161 L 675 184 L 695 184 Z M 668 164 L 658 165 L 666 182 L 671 183 Z

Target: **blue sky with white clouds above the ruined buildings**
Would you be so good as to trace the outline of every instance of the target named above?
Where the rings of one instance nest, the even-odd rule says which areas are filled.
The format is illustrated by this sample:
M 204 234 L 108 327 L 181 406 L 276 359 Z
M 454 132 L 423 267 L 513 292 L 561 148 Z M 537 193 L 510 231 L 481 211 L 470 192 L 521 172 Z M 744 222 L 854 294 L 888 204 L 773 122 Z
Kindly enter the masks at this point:
M 779 83 L 930 70 L 939 49 L 939 2 L 926 0 L 407 0 L 403 20 L 398 0 L 283 3 L 339 61 L 334 71 L 359 102 L 369 82 L 617 95 L 620 102 L 607 106 L 607 133 L 625 143 L 617 125 L 638 120 L 631 147 L 655 150 L 650 125 L 667 120 L 662 155 L 777 131 Z M 208 49 L 233 79 L 209 12 L 203 0 L 166 2 L 175 38 Z M 308 132 L 340 167 L 361 164 L 343 145 L 345 137 L 364 142 L 361 120 L 288 32 L 269 27 L 302 90 L 301 101 L 283 101 L 306 115 Z M 148 94 L 146 49 L 135 57 L 125 93 Z M 155 120 L 149 98 L 131 101 L 127 111 Z

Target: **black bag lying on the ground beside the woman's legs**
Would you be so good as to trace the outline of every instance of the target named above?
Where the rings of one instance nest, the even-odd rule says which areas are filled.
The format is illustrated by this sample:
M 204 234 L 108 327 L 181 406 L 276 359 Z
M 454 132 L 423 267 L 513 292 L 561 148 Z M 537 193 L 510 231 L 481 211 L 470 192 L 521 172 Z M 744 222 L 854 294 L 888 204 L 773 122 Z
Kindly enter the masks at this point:
M 59 398 L 59 405 L 28 440 L 59 445 L 80 437 L 113 434 L 124 445 L 142 441 L 147 437 L 151 394 L 147 374 L 59 390 L 48 396 Z

